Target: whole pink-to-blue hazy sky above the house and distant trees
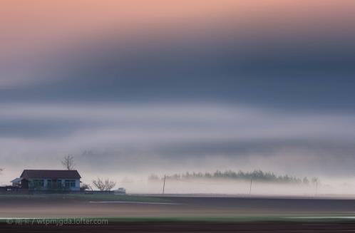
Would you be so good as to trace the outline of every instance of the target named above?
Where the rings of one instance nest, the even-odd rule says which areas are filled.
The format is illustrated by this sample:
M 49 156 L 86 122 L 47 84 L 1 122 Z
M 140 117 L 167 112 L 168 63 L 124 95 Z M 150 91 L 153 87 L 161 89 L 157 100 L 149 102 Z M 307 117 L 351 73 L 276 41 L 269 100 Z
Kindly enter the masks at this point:
M 261 169 L 354 179 L 352 0 L 2 0 L 0 185 Z

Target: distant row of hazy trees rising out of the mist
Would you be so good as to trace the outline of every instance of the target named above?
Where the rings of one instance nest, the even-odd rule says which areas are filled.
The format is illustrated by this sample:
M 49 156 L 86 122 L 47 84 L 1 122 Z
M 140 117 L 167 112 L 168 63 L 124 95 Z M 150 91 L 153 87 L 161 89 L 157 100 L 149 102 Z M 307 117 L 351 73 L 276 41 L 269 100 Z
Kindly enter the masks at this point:
M 148 180 L 161 180 L 162 177 L 158 175 L 150 175 Z M 292 183 L 292 184 L 315 184 L 319 182 L 317 177 L 294 177 L 289 175 L 276 175 L 274 172 L 263 172 L 262 170 L 254 170 L 252 172 L 243 171 L 232 171 L 227 170 L 221 172 L 217 170 L 216 172 L 186 172 L 185 174 L 173 174 L 166 175 L 168 180 L 192 180 L 192 179 L 207 179 L 207 180 L 217 180 L 217 179 L 228 179 L 228 180 L 253 180 L 260 182 L 273 182 L 273 183 Z

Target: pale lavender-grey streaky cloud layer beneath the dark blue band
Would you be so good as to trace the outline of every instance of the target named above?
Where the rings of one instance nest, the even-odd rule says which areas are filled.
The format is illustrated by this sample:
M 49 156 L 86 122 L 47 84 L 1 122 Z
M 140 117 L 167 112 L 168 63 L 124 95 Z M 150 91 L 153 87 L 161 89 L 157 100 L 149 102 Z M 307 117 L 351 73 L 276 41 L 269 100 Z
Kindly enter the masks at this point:
M 71 153 L 90 175 L 260 168 L 341 176 L 354 160 L 353 114 L 198 103 L 1 109 L 1 157 L 11 170 L 58 168 Z

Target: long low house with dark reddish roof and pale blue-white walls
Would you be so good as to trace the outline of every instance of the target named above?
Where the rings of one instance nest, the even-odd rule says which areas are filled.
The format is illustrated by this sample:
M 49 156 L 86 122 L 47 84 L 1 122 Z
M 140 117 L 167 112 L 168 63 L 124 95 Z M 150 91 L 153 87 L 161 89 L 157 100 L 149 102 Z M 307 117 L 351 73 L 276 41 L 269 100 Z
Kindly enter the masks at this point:
M 11 182 L 14 187 L 28 190 L 79 191 L 80 179 L 77 170 L 24 170 Z

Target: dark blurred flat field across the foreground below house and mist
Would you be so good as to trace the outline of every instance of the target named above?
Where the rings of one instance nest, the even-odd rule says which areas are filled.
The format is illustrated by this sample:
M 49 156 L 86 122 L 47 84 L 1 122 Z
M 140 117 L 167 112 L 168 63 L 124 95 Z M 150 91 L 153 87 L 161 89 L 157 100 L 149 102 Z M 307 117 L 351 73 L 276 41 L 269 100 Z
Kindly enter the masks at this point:
M 341 232 L 355 200 L 116 195 L 0 196 L 5 232 Z

